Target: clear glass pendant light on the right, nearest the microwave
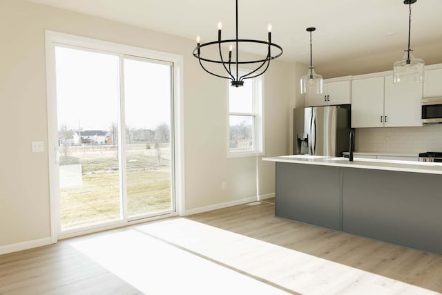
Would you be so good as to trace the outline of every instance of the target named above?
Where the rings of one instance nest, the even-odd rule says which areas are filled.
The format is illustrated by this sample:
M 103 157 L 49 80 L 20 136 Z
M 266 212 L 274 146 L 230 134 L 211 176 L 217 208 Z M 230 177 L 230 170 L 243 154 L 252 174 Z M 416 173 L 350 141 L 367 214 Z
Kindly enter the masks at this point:
M 403 59 L 396 61 L 393 65 L 393 82 L 417 82 L 422 83 L 425 75 L 425 63 L 423 59 L 416 59 L 413 50 L 410 48 L 410 31 L 412 26 L 412 3 L 417 0 L 405 0 L 403 3 L 409 7 L 408 15 L 408 49 L 404 50 Z

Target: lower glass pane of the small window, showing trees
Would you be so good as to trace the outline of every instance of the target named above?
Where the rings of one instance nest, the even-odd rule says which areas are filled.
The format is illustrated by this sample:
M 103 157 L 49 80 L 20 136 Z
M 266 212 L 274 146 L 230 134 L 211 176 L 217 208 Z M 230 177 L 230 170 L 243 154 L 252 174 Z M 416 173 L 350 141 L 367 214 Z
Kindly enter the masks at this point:
M 245 115 L 229 116 L 230 151 L 250 151 L 255 149 L 253 139 L 254 117 Z

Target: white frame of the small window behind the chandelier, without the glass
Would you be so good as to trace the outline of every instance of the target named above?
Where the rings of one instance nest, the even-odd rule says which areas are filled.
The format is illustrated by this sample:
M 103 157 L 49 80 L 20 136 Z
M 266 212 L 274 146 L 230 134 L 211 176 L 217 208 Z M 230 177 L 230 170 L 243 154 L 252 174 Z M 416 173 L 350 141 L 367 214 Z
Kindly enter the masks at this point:
M 240 69 L 241 72 L 241 69 Z M 263 75 L 255 78 L 247 79 L 244 83 L 253 83 L 252 86 L 252 105 L 253 111 L 251 113 L 238 113 L 230 111 L 230 95 L 227 84 L 227 158 L 242 158 L 252 157 L 257 155 L 264 155 L 264 79 Z M 253 149 L 231 151 L 230 148 L 230 117 L 231 115 L 243 115 L 253 117 Z

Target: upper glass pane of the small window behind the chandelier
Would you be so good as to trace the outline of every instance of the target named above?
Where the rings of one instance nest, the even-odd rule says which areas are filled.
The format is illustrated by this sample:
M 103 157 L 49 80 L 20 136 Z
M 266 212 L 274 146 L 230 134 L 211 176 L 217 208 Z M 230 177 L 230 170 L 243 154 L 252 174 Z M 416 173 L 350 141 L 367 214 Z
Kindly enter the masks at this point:
M 229 112 L 253 113 L 253 81 L 247 79 L 244 86 L 229 86 Z

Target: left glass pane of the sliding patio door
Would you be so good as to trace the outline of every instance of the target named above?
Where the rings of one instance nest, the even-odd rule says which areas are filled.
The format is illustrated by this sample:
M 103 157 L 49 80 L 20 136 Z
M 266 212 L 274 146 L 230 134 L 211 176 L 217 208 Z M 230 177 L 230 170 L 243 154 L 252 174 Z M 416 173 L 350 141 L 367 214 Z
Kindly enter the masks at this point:
M 55 59 L 61 231 L 119 220 L 119 58 L 56 47 Z

